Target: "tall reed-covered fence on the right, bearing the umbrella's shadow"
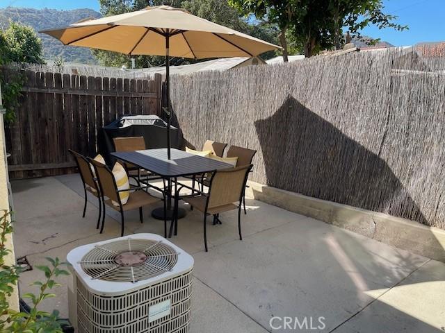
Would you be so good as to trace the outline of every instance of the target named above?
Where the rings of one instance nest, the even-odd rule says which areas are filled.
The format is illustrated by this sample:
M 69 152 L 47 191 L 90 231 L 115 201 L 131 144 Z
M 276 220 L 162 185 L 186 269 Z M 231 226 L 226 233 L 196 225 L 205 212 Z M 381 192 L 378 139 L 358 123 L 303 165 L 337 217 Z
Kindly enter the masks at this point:
M 254 181 L 445 228 L 443 60 L 375 51 L 175 76 L 172 104 L 197 148 L 257 149 Z

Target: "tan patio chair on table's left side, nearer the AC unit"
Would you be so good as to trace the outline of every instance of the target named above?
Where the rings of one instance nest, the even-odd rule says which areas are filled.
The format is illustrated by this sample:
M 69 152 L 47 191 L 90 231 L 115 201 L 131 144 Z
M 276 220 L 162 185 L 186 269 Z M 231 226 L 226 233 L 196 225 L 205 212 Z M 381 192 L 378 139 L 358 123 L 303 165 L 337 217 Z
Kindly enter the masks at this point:
M 145 189 L 147 186 L 139 187 L 139 186 L 130 186 L 130 189 L 118 189 L 118 185 L 116 184 L 115 177 L 113 176 L 113 172 L 110 168 L 108 168 L 105 164 L 99 163 L 95 160 L 88 159 L 90 163 L 95 167 L 95 172 L 97 175 L 97 181 L 99 182 L 99 188 L 103 196 L 106 196 L 108 199 L 104 200 L 104 203 L 109 207 L 113 208 L 120 212 L 121 219 L 121 233 L 120 236 L 124 235 L 124 212 L 127 210 L 134 210 L 136 208 L 139 209 L 139 219 L 140 223 L 143 223 L 143 207 L 146 205 L 152 205 L 153 203 L 157 203 L 159 201 L 163 201 L 164 204 L 164 237 L 167 237 L 167 205 L 165 200 L 165 194 L 162 189 L 156 187 L 154 185 L 147 185 L 161 192 L 163 195 L 163 199 L 156 198 L 151 194 L 147 193 Z M 122 191 L 130 191 L 129 198 L 127 203 L 122 204 L 120 198 L 120 192 Z M 113 205 L 113 201 L 118 203 L 118 205 Z M 105 206 L 104 206 L 104 215 L 105 215 Z M 102 227 L 100 232 L 104 230 L 104 219 L 102 219 Z

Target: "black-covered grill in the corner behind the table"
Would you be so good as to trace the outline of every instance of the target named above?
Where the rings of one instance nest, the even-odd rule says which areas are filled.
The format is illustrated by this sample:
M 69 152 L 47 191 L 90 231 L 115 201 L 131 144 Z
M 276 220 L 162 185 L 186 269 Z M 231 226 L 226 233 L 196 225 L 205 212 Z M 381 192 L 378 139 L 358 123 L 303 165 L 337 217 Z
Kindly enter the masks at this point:
M 131 114 L 124 115 L 104 126 L 99 132 L 97 148 L 107 164 L 114 164 L 110 153 L 115 151 L 115 137 L 144 137 L 147 148 L 167 148 L 167 123 L 158 116 Z M 181 130 L 170 126 L 170 143 L 172 148 L 181 148 L 183 137 Z

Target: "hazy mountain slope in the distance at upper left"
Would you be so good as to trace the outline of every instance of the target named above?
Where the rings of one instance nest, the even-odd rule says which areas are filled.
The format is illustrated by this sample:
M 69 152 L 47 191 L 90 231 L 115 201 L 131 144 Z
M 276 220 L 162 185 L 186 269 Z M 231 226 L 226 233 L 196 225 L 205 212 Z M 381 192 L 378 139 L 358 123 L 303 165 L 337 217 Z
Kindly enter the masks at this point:
M 8 28 L 9 20 L 20 22 L 31 26 L 35 31 L 47 28 L 59 28 L 78 22 L 87 17 L 101 17 L 95 10 L 83 8 L 74 10 L 34 9 L 6 7 L 0 9 L 0 28 Z M 91 50 L 83 47 L 64 46 L 54 37 L 38 33 L 42 39 L 44 58 L 54 60 L 61 57 L 65 62 L 81 62 L 86 64 L 97 64 L 92 56 Z

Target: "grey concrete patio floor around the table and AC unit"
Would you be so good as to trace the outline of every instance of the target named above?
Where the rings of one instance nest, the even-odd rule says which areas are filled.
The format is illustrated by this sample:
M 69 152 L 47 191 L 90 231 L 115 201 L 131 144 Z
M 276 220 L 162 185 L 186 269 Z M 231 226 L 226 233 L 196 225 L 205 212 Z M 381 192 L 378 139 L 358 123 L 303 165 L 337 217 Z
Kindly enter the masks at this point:
M 15 254 L 32 266 L 120 236 L 115 212 L 108 212 L 103 234 L 95 229 L 94 197 L 81 218 L 79 175 L 16 180 L 12 186 Z M 188 215 L 171 241 L 195 259 L 191 333 L 445 331 L 444 263 L 256 200 L 247 205 L 243 241 L 236 211 L 221 214 L 222 225 L 208 220 L 209 253 L 202 214 L 185 207 Z M 129 212 L 125 234 L 163 234 L 152 208 L 145 207 L 143 224 L 137 211 Z M 21 293 L 33 291 L 29 284 L 39 278 L 36 269 L 24 273 Z M 67 279 L 42 309 L 67 317 Z M 286 321 L 292 328 L 284 327 L 284 317 L 291 317 Z M 301 328 L 294 330 L 296 318 Z

